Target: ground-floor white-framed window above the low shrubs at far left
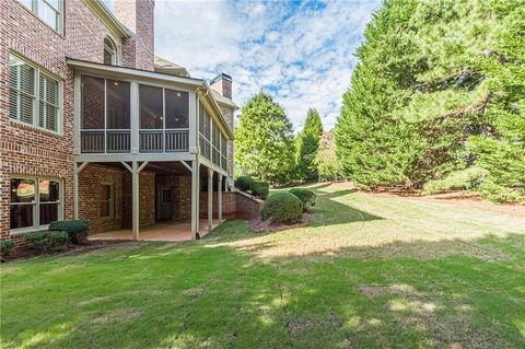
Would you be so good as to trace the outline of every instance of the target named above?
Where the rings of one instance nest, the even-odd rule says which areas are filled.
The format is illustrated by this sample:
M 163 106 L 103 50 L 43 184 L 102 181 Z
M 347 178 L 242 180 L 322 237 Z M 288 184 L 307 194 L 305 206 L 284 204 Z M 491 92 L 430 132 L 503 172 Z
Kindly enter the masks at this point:
M 10 229 L 12 233 L 45 229 L 62 219 L 62 182 L 59 178 L 12 176 Z

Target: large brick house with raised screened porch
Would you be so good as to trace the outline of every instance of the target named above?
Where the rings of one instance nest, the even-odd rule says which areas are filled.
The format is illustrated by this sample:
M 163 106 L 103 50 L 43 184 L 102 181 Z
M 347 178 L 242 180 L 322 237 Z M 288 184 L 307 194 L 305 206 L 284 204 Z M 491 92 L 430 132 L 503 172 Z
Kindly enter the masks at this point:
M 153 0 L 0 1 L 0 240 L 235 214 L 232 79 L 155 58 L 153 23 Z

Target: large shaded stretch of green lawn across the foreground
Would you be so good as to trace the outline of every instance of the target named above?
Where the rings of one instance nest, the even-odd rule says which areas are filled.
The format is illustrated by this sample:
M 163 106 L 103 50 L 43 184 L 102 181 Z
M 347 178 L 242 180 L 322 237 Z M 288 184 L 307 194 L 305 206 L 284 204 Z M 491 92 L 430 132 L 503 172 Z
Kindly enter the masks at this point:
M 8 347 L 518 348 L 524 239 L 478 241 L 511 256 L 497 260 L 459 246 L 261 263 L 200 242 L 16 263 L 2 276 L 1 335 Z M 422 244 L 443 248 L 400 245 Z

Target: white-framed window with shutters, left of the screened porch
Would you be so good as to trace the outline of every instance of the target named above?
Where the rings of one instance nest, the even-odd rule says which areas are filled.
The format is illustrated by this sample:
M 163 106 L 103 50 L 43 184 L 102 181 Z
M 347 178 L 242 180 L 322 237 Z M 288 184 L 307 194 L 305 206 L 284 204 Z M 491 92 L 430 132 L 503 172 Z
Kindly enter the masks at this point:
M 9 57 L 9 116 L 60 133 L 62 83 L 15 55 Z

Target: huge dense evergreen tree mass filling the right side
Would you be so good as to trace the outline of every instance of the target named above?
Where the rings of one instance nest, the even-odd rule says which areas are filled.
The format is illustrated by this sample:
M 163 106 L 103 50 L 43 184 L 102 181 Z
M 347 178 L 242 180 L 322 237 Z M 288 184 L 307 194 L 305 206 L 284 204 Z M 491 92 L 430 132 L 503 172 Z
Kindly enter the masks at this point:
M 522 0 L 386 0 L 337 121 L 345 174 L 418 188 L 477 166 L 483 195 L 523 194 L 524 32 Z

